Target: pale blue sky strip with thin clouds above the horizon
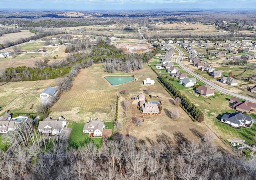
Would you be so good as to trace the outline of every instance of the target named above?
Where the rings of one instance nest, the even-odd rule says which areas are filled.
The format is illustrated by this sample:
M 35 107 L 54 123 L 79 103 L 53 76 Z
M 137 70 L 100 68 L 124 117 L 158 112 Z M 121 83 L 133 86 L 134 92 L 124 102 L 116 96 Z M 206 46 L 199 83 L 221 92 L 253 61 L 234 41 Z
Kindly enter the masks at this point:
M 256 9 L 256 0 L 1 0 L 0 9 L 16 10 L 150 10 Z

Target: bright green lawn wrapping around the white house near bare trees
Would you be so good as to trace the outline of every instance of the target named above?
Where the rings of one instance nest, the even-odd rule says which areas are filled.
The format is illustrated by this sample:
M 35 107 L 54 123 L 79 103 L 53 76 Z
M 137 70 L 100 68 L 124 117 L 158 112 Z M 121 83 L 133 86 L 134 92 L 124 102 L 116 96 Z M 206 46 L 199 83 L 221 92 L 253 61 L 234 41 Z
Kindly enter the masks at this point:
M 77 149 L 78 147 L 84 146 L 87 142 L 93 141 L 98 148 L 101 148 L 102 138 L 89 138 L 88 134 L 82 134 L 84 123 L 70 122 L 68 127 L 72 128 L 68 140 L 68 144 L 71 147 Z

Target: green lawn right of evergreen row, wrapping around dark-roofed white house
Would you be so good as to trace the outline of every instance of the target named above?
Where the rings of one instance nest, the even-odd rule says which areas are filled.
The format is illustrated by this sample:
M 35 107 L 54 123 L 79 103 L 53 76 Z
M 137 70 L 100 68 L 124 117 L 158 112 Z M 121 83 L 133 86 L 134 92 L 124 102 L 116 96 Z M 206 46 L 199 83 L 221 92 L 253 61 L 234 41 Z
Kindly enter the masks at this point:
M 176 85 L 176 84 L 175 84 Z M 177 88 L 179 86 L 176 86 Z M 179 89 L 179 88 L 178 88 Z M 194 104 L 196 104 L 205 116 L 204 123 L 207 124 L 218 136 L 227 140 L 231 138 L 241 138 L 246 140 L 246 144 L 255 143 L 254 136 L 256 135 L 256 124 L 249 128 L 235 129 L 231 128 L 228 124 L 218 122 L 218 119 L 224 113 L 235 112 L 230 106 L 230 97 L 220 92 L 215 91 L 214 96 L 208 98 L 199 96 L 190 89 L 180 89 L 181 93 L 186 95 Z M 251 115 L 256 118 L 256 115 Z M 218 118 L 217 118 L 218 117 Z

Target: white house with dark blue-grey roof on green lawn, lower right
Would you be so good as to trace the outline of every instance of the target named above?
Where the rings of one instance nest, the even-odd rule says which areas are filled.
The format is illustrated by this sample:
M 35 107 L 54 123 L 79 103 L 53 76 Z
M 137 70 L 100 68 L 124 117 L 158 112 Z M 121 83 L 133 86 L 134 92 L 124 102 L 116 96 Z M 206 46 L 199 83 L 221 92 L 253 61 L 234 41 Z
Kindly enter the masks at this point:
M 241 112 L 234 112 L 230 114 L 224 114 L 220 122 L 229 124 L 231 127 L 240 128 L 248 126 L 252 122 L 252 118 L 250 116 L 244 115 Z

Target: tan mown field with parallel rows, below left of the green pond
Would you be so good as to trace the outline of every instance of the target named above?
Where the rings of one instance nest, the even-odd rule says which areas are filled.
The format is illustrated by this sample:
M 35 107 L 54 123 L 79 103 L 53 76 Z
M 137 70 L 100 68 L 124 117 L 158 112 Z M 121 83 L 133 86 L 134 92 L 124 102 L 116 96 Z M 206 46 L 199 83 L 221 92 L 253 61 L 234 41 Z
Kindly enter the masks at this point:
M 90 117 L 108 122 L 114 120 L 116 91 L 70 90 L 62 94 L 51 108 L 51 116 L 64 116 L 75 122 L 88 122 Z M 111 109 L 113 104 L 113 111 Z

